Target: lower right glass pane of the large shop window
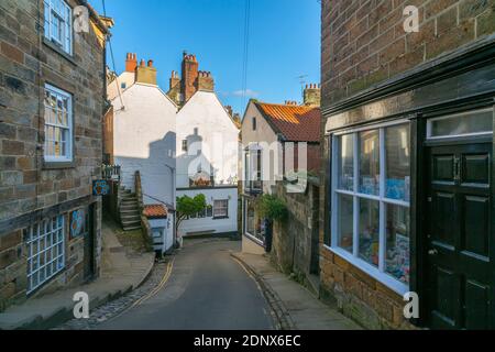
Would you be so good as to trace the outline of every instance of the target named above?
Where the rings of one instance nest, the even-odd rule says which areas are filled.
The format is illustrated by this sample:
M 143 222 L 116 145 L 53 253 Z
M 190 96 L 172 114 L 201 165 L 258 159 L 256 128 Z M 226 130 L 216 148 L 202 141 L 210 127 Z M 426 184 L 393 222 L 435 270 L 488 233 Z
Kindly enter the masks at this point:
M 409 284 L 409 209 L 386 206 L 386 261 L 385 272 Z

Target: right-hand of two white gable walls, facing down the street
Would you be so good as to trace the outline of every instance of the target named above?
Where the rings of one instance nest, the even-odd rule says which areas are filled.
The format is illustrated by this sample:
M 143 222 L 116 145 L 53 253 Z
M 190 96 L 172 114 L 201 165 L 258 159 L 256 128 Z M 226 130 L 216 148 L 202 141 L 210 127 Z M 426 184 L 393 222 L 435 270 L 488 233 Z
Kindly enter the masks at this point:
M 195 129 L 197 134 L 195 135 Z M 216 233 L 238 231 L 238 160 L 239 129 L 233 123 L 217 95 L 210 91 L 198 91 L 177 113 L 177 196 L 194 197 L 204 194 L 207 202 L 213 199 L 229 199 L 229 219 L 211 218 L 191 219 L 182 223 L 179 232 Z M 183 141 L 189 141 L 188 153 L 183 152 Z M 198 151 L 200 153 L 198 154 Z M 235 188 L 187 189 L 189 176 L 202 170 L 210 173 L 215 168 L 216 185 L 234 185 Z

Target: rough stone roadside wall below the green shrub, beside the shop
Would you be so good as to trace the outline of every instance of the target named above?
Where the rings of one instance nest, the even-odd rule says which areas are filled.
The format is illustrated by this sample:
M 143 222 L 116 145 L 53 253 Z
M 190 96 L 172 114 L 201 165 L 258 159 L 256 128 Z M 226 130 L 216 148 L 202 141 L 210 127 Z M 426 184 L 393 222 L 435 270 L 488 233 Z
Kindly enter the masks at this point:
M 318 274 L 311 271 L 311 254 L 318 240 L 319 185 L 309 183 L 305 193 L 290 194 L 278 182 L 275 195 L 285 201 L 289 216 L 285 223 L 274 223 L 271 260 L 282 272 L 294 273 L 305 283 L 308 275 Z

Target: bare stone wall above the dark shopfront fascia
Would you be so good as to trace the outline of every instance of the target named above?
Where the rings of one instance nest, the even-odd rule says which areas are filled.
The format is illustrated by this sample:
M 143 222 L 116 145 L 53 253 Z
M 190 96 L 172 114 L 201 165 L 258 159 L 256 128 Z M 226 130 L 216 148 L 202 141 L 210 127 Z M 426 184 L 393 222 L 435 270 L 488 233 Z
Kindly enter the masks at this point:
M 404 31 L 406 6 L 419 32 Z M 495 0 L 323 0 L 322 107 L 495 32 Z

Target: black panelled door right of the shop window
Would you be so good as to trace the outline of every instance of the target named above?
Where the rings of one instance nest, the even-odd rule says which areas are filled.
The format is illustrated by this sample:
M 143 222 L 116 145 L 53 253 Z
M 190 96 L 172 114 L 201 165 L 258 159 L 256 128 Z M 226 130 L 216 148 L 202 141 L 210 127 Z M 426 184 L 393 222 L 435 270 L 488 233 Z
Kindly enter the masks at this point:
M 429 150 L 427 290 L 432 329 L 492 329 L 492 144 Z

